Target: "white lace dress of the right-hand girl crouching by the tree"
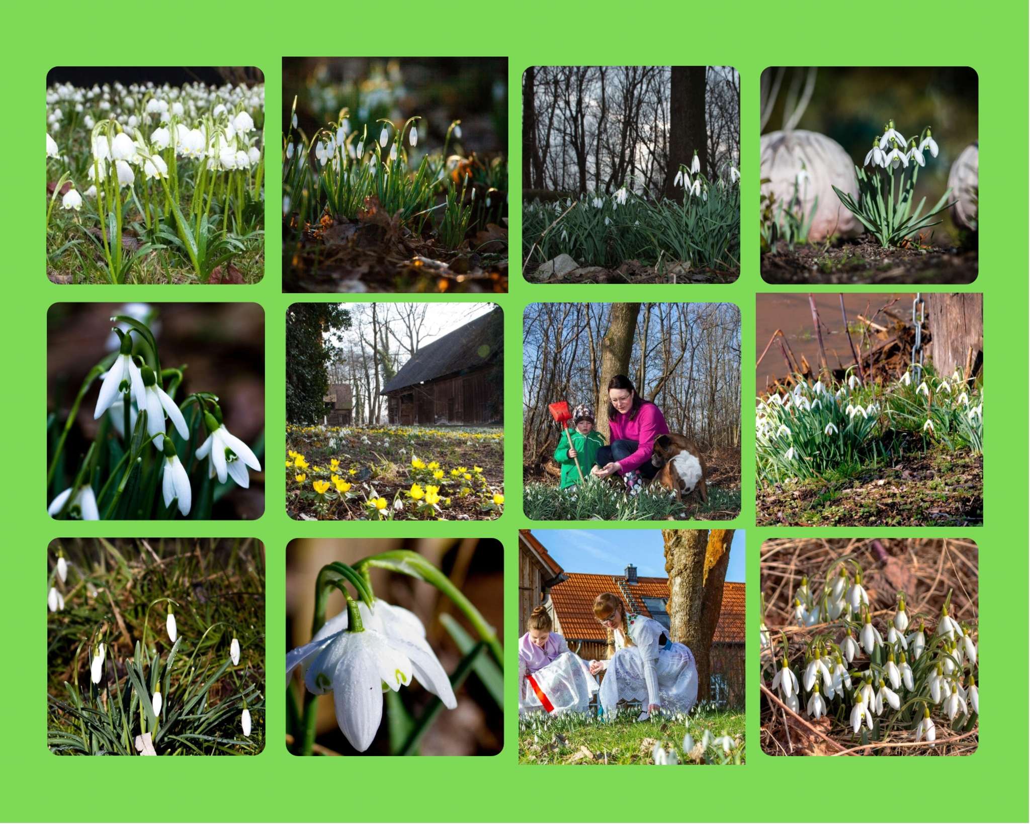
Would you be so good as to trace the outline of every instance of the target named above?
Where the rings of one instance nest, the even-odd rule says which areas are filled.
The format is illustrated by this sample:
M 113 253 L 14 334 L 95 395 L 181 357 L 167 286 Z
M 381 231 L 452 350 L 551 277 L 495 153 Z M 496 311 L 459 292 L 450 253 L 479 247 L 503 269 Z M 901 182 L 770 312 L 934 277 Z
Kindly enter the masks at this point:
M 627 615 L 626 629 L 632 645 L 615 630 L 615 655 L 600 662 L 605 678 L 597 699 L 605 713 L 614 715 L 620 700 L 689 713 L 697 700 L 697 665 L 690 649 L 667 640 L 659 644 L 665 628 L 653 618 Z

